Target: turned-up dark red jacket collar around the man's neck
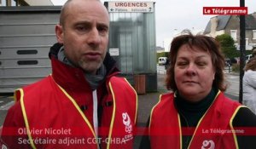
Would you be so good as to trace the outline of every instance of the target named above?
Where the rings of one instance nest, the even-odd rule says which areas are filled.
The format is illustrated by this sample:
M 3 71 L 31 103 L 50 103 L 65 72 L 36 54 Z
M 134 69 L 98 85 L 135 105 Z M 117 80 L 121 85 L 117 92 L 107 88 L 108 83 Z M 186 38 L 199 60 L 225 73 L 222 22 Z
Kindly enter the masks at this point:
M 49 59 L 52 64 L 52 76 L 55 82 L 61 85 L 64 89 L 82 89 L 90 90 L 90 84 L 84 78 L 84 72 L 76 67 L 68 66 L 57 60 L 57 55 L 63 44 L 55 43 L 49 50 Z M 107 80 L 119 73 L 116 67 L 116 62 L 107 52 L 103 61 L 104 66 L 107 69 Z

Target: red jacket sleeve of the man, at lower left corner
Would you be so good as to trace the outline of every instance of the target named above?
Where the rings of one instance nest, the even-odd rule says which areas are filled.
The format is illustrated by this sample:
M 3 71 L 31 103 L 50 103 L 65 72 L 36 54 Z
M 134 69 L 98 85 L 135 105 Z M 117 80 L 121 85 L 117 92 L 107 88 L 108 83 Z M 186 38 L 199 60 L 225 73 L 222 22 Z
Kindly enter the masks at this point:
M 27 135 L 24 135 L 26 129 L 22 116 L 20 101 L 12 106 L 5 117 L 2 134 L 0 136 L 0 146 L 6 146 L 11 149 L 30 148 L 27 141 Z

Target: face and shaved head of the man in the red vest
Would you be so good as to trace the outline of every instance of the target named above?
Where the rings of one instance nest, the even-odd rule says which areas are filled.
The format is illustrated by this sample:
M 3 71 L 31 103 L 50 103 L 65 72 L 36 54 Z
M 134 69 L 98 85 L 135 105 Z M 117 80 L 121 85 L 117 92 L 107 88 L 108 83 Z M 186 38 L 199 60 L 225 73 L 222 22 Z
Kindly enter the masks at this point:
M 74 0 L 67 6 L 64 25 L 55 32 L 67 59 L 88 73 L 96 73 L 108 47 L 108 11 L 98 1 Z

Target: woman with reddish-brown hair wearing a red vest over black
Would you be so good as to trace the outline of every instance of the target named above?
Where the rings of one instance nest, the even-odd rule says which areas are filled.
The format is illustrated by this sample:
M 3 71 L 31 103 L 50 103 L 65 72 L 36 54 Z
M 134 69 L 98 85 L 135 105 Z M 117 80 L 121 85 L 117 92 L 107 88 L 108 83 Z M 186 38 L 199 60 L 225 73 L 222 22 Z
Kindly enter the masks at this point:
M 250 148 L 256 116 L 224 95 L 224 56 L 212 37 L 175 37 L 166 86 L 153 107 L 141 148 Z M 238 128 L 238 129 L 237 129 Z M 240 129 L 239 129 L 240 128 Z

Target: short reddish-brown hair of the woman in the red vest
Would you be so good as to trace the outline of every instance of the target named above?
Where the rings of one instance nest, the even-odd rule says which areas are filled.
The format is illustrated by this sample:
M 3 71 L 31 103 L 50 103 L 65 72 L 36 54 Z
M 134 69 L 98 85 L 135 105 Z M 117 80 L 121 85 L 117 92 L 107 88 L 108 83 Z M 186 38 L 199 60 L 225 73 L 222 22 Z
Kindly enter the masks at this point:
M 201 49 L 211 55 L 212 66 L 215 71 L 212 87 L 225 91 L 227 84 L 224 80 L 224 55 L 220 51 L 220 44 L 213 37 L 192 35 L 191 33 L 180 35 L 172 40 L 169 53 L 170 66 L 166 72 L 166 88 L 172 91 L 177 90 L 177 85 L 174 80 L 174 66 L 177 60 L 177 52 L 183 44 L 189 45 L 191 49 L 193 49 L 193 47 Z

